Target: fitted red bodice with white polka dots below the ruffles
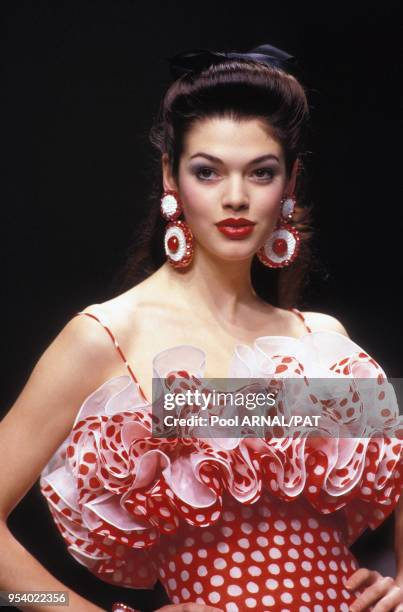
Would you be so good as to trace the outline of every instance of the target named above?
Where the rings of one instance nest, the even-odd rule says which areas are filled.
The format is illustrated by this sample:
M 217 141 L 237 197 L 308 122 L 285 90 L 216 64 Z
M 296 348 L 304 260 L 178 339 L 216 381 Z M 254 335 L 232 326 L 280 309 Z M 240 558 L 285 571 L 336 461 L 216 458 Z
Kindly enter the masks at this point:
M 264 494 L 244 506 L 231 497 L 210 527 L 184 525 L 161 542 L 158 575 L 173 603 L 243 610 L 348 611 L 345 588 L 358 568 L 341 515 Z

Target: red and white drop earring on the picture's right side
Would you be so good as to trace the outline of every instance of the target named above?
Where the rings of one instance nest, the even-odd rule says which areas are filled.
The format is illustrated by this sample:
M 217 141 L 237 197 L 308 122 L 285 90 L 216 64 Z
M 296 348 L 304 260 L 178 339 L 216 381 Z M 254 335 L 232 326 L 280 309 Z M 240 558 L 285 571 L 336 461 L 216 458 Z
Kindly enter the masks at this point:
M 257 251 L 259 260 L 268 268 L 285 268 L 298 255 L 300 235 L 289 223 L 295 210 L 296 201 L 292 196 L 282 199 L 281 215 L 275 230 Z

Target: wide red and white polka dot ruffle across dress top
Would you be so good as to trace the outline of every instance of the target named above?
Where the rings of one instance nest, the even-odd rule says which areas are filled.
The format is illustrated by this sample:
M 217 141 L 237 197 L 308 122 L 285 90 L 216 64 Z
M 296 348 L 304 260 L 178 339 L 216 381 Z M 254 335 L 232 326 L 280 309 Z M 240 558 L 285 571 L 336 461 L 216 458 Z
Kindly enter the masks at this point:
M 192 345 L 166 349 L 154 357 L 154 377 L 173 393 L 206 389 L 205 359 Z M 287 502 L 305 498 L 323 514 L 341 510 L 348 545 L 396 507 L 403 419 L 385 372 L 350 338 L 262 336 L 237 345 L 228 377 L 278 389 L 293 379 L 298 392 L 276 414 L 288 418 L 302 405 L 320 424 L 293 436 L 280 428 L 259 437 L 152 437 L 157 417 L 129 376 L 111 378 L 82 404 L 40 486 L 70 554 L 102 580 L 152 588 L 160 537 L 182 521 L 217 522 L 225 492 L 242 504 L 265 489 Z

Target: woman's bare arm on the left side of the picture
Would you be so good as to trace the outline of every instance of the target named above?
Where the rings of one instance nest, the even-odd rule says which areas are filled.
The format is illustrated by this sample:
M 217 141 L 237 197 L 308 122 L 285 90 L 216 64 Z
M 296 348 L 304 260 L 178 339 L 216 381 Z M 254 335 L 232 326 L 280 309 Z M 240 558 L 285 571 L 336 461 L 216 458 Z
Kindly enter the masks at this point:
M 43 353 L 0 422 L 0 590 L 68 591 L 68 609 L 101 610 L 47 571 L 14 538 L 7 518 L 67 437 L 83 400 L 103 382 L 115 359 L 110 338 L 99 324 L 89 317 L 73 318 Z M 60 612 L 60 606 L 19 609 Z

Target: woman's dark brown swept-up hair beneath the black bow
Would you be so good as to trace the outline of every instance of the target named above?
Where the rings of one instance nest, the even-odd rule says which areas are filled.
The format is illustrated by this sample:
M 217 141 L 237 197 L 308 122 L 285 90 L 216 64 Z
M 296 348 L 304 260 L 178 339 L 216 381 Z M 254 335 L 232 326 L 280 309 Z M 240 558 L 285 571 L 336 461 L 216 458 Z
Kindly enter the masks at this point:
M 166 221 L 160 214 L 163 192 L 161 156 L 167 153 L 177 181 L 184 137 L 192 125 L 210 117 L 234 120 L 263 119 L 283 147 L 287 178 L 299 160 L 292 223 L 300 232 L 300 252 L 287 268 L 264 266 L 255 255 L 252 283 L 265 301 L 282 308 L 295 306 L 307 285 L 312 262 L 310 238 L 312 206 L 303 205 L 304 156 L 309 106 L 302 84 L 292 74 L 251 60 L 226 60 L 199 73 L 180 76 L 168 88 L 149 133 L 156 156 L 151 172 L 150 205 L 146 219 L 136 228 L 127 259 L 115 282 L 125 290 L 144 280 L 166 260 L 163 246 Z

